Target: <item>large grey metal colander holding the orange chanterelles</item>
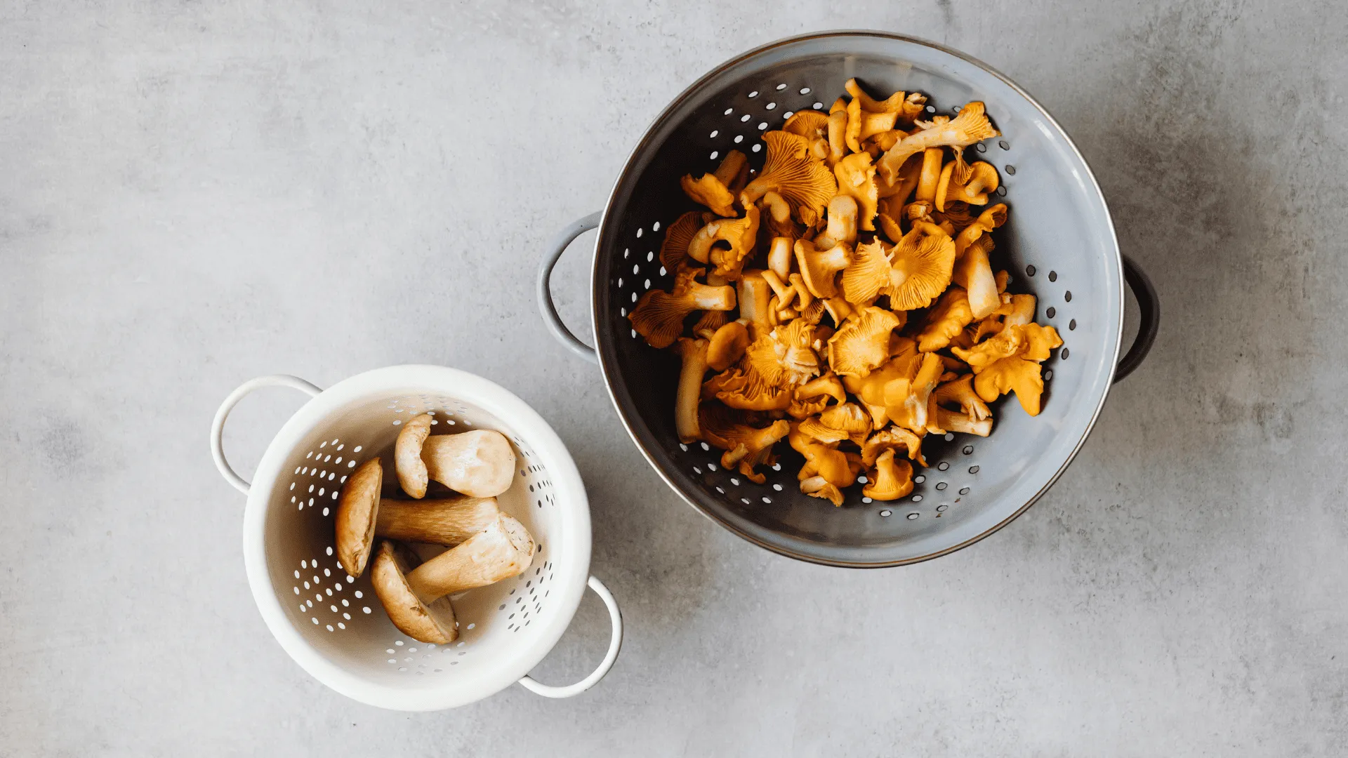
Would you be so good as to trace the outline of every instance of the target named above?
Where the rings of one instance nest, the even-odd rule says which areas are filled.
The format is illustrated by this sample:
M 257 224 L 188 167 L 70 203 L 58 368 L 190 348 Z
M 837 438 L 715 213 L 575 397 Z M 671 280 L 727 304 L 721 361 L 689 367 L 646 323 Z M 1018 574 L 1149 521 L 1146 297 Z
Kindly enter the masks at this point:
M 1002 174 L 1010 221 L 993 267 L 1012 291 L 1038 298 L 1037 320 L 1065 341 L 1045 363 L 1043 411 L 993 406 L 987 438 L 927 436 L 930 464 L 902 500 L 849 492 L 842 507 L 802 495 L 801 459 L 779 445 L 778 467 L 755 484 L 717 465 L 720 450 L 682 445 L 674 433 L 679 360 L 650 348 L 625 316 L 642 293 L 669 289 L 656 251 L 662 225 L 694 208 L 679 177 L 712 171 L 739 148 L 762 166 L 760 135 L 795 111 L 828 108 L 856 77 L 869 92 L 918 90 L 933 113 L 983 100 L 1002 131 L 971 148 Z M 594 243 L 592 351 L 562 324 L 549 276 L 566 245 L 599 227 Z M 1142 306 L 1142 328 L 1122 364 L 1123 285 Z M 689 503 L 745 540 L 778 553 L 842 566 L 886 566 L 969 545 L 1023 513 L 1062 473 L 1091 432 L 1109 384 L 1146 356 L 1158 306 L 1150 282 L 1119 255 L 1109 210 L 1091 169 L 1062 128 L 1023 89 L 953 50 L 902 35 L 836 31 L 785 39 L 717 66 L 674 98 L 632 150 L 603 214 L 566 228 L 543 260 L 539 306 L 554 334 L 596 360 L 632 440 Z M 1010 399 L 1010 402 L 1008 402 Z

